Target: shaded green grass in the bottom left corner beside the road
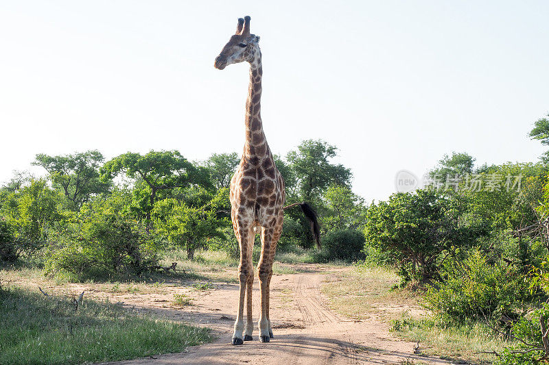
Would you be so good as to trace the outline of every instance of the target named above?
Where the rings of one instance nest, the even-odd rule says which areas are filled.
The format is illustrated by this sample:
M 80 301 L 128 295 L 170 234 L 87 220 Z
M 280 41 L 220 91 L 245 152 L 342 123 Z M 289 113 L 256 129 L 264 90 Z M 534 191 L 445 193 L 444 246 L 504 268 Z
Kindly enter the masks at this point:
M 84 297 L 19 288 L 0 291 L 0 364 L 82 364 L 183 351 L 211 340 L 207 329 L 148 318 Z

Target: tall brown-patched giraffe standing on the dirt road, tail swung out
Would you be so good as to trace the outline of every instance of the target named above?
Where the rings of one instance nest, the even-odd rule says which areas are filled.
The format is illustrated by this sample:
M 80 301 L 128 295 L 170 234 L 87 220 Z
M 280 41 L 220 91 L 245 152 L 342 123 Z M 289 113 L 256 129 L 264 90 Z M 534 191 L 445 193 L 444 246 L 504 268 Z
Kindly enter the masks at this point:
M 277 169 L 263 131 L 261 121 L 261 50 L 259 36 L 250 34 L 250 16 L 239 18 L 236 33 L 215 58 L 219 70 L 229 64 L 248 62 L 250 84 L 246 100 L 246 139 L 242 160 L 231 179 L 231 220 L 240 246 L 239 282 L 240 299 L 231 344 L 239 345 L 253 340 L 252 288 L 254 269 L 252 251 L 255 235 L 261 231 L 261 256 L 257 264 L 261 289 L 259 340 L 273 338 L 269 317 L 269 286 L 272 262 L 277 242 L 282 233 L 284 209 L 299 205 L 309 220 L 316 244 L 320 247 L 316 212 L 303 203 L 284 207 L 284 180 Z M 246 298 L 246 325 L 244 325 L 244 299 Z

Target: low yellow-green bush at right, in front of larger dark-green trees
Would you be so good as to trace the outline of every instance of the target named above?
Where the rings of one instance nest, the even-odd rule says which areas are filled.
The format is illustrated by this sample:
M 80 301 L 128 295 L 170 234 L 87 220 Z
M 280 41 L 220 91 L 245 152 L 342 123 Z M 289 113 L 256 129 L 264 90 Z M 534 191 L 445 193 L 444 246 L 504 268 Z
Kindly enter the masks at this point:
M 445 265 L 442 279 L 425 295 L 425 307 L 457 321 L 517 318 L 529 299 L 524 275 L 515 266 L 489 264 L 473 250 L 463 263 Z

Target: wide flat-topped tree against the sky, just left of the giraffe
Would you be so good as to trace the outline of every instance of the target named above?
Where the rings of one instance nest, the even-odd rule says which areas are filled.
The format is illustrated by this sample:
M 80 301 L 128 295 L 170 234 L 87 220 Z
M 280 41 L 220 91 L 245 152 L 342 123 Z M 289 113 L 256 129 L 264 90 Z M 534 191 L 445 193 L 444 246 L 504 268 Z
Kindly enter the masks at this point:
M 113 179 L 119 173 L 125 173 L 144 186 L 138 190 L 138 195 L 141 197 L 141 210 L 149 222 L 148 227 L 159 191 L 185 188 L 192 184 L 212 187 L 207 168 L 195 166 L 178 151 L 150 151 L 146 155 L 124 153 L 106 162 L 100 171 L 104 179 Z M 139 185 L 136 184 L 136 187 L 139 188 Z

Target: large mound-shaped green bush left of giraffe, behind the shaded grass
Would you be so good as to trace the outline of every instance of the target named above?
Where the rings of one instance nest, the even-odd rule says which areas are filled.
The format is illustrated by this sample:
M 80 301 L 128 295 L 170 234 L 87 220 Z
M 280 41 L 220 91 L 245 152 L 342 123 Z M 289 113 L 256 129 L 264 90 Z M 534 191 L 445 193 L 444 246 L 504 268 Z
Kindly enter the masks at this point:
M 128 215 L 128 194 L 116 191 L 82 207 L 49 245 L 46 273 L 65 270 L 79 277 L 139 274 L 156 263 L 159 249 L 145 227 Z

